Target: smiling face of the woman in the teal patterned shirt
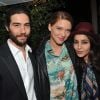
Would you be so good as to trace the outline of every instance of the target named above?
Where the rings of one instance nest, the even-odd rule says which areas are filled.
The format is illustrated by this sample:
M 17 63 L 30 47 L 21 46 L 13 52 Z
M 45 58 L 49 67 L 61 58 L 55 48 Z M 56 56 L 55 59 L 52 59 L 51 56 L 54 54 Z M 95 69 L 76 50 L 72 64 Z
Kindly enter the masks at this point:
M 72 25 L 68 20 L 58 19 L 53 25 L 49 24 L 48 29 L 51 32 L 50 42 L 55 45 L 62 45 L 70 35 Z

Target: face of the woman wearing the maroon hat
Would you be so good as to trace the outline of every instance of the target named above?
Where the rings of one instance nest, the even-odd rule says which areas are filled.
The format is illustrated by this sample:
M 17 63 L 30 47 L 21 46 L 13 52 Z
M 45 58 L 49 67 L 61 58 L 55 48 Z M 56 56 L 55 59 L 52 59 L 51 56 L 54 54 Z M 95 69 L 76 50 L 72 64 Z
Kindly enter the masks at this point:
M 85 61 L 88 60 L 90 52 L 90 40 L 86 35 L 77 34 L 74 36 L 74 49 L 78 57 L 83 57 Z

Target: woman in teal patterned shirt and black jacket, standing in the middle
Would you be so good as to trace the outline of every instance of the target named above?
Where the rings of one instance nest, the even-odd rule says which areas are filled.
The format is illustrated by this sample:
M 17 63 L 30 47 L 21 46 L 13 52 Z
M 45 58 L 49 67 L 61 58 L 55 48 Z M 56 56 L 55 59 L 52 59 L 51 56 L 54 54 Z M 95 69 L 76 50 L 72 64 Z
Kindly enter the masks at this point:
M 48 25 L 50 37 L 36 51 L 42 100 L 78 100 L 75 55 L 67 39 L 72 17 L 55 12 Z

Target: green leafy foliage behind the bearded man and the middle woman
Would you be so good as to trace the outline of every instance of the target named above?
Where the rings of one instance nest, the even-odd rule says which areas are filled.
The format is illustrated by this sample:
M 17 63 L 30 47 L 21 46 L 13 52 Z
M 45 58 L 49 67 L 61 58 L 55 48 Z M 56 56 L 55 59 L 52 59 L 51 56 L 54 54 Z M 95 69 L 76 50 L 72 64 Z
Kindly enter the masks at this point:
M 24 3 L 31 12 L 32 17 L 32 31 L 29 44 L 32 47 L 37 47 L 38 43 L 49 34 L 47 26 L 48 20 L 52 12 L 59 8 L 66 9 L 66 0 L 48 0 L 46 3 L 33 4 L 32 2 Z M 13 6 L 13 5 L 12 5 Z M 8 37 L 8 33 L 4 28 L 5 10 L 9 6 L 0 7 L 0 45 L 3 44 Z

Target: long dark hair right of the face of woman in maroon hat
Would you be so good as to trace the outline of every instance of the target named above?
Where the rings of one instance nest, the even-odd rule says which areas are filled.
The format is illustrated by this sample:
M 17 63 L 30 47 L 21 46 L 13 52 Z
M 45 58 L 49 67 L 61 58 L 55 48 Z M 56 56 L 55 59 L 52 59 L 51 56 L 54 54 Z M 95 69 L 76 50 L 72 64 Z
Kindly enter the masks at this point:
M 100 38 L 99 36 L 97 36 L 94 39 L 93 37 L 88 35 L 87 37 L 89 38 L 91 45 L 89 61 L 93 67 L 95 67 L 97 70 L 100 70 Z

